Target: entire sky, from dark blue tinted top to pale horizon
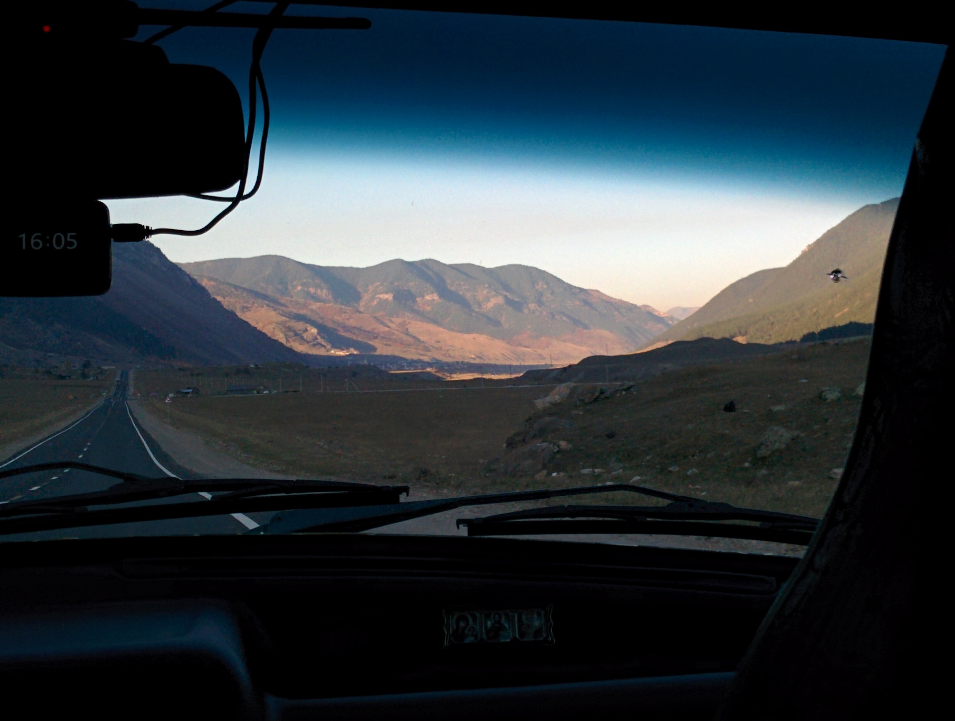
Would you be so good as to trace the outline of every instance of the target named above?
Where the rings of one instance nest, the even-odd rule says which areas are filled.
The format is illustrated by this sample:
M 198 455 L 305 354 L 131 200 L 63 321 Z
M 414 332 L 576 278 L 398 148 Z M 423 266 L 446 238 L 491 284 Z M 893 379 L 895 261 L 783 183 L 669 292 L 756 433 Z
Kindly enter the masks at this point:
M 149 3 L 151 7 L 202 7 Z M 263 11 L 240 3 L 236 11 Z M 785 265 L 898 195 L 944 49 L 773 32 L 399 11 L 365 32 L 277 31 L 260 194 L 175 261 L 277 253 L 537 265 L 666 309 Z M 146 36 L 155 29 L 144 29 Z M 190 29 L 173 62 L 241 91 L 251 32 Z M 215 208 L 111 201 L 114 222 Z

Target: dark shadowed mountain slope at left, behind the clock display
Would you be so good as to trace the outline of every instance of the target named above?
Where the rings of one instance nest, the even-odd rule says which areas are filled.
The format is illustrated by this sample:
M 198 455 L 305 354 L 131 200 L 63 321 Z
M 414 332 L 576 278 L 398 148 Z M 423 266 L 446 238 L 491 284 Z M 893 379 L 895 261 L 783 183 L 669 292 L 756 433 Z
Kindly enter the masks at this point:
M 114 362 L 301 361 L 148 242 L 114 244 L 113 287 L 103 296 L 0 299 L 0 348 L 20 363 L 48 354 Z

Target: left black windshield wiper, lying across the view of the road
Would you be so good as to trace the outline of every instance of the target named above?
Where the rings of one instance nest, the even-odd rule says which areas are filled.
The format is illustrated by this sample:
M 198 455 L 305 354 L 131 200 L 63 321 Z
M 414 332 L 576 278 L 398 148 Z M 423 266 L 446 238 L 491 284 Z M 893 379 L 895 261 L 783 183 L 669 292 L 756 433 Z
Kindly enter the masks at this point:
M 408 486 L 379 486 L 322 479 L 150 478 L 63 461 L 3 472 L 0 478 L 57 469 L 90 471 L 122 480 L 103 491 L 8 502 L 0 505 L 0 535 L 75 526 L 107 525 L 143 520 L 216 516 L 288 508 L 380 506 L 397 503 Z M 121 508 L 95 508 L 193 494 L 217 494 L 202 502 L 168 502 Z M 191 500 L 198 501 L 198 498 Z

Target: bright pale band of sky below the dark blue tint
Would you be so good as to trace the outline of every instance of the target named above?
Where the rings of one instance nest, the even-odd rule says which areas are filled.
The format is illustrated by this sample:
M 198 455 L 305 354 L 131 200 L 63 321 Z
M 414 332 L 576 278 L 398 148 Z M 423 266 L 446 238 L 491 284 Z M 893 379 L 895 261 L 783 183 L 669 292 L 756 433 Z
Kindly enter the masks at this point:
M 276 156 L 270 182 L 234 217 L 198 239 L 153 242 L 178 263 L 276 254 L 314 265 L 534 265 L 666 310 L 788 264 L 862 204 L 553 169 Z M 110 206 L 115 223 L 154 225 L 199 225 L 210 211 L 188 199 Z

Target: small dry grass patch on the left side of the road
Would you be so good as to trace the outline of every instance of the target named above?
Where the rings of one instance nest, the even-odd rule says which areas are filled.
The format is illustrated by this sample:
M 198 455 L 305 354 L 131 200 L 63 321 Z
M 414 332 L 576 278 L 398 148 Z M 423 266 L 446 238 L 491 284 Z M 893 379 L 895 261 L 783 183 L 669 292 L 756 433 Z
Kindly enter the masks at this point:
M 74 372 L 78 375 L 78 371 Z M 18 444 L 79 413 L 103 392 L 112 391 L 115 373 L 115 370 L 100 373 L 98 380 L 59 379 L 56 375 L 31 369 L 3 369 L 0 377 L 0 460 Z

